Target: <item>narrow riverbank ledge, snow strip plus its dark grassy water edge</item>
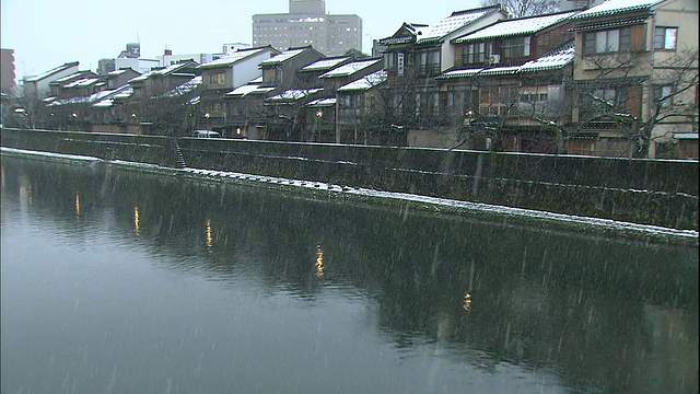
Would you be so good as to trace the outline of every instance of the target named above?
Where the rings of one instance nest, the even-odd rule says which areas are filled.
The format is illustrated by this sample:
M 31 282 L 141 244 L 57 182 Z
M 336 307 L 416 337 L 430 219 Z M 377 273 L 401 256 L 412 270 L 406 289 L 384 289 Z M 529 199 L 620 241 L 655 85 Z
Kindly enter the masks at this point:
M 261 187 L 292 197 L 319 200 L 345 200 L 423 211 L 429 215 L 448 215 L 469 220 L 499 222 L 513 227 L 547 224 L 552 232 L 562 231 L 586 237 L 617 237 L 630 242 L 669 243 L 698 246 L 698 231 L 679 230 L 657 225 L 639 224 L 610 219 L 590 218 L 539 210 L 522 209 L 499 205 L 469 202 L 408 193 L 395 193 L 363 187 L 351 187 L 332 183 L 313 182 L 275 176 L 255 175 L 240 172 L 176 169 L 158 164 L 147 164 L 122 160 L 103 160 L 97 157 L 39 152 L 13 148 L 2 148 L 2 155 L 22 157 L 34 160 L 82 164 L 110 165 L 130 171 L 150 172 L 166 176 L 191 178 L 212 183 L 229 183 L 248 187 Z

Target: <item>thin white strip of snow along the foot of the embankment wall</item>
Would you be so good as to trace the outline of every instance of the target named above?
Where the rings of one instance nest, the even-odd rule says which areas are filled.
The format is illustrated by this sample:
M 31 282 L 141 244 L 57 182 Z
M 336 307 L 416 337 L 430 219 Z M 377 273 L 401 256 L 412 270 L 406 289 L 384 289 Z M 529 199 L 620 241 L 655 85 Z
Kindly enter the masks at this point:
M 57 159 L 70 159 L 70 160 L 79 160 L 79 161 L 102 161 L 102 159 L 94 158 L 94 157 L 27 151 L 27 150 L 5 148 L 5 147 L 2 147 L 1 152 L 52 157 Z M 121 161 L 121 160 L 106 161 L 106 163 L 113 163 L 116 165 L 126 165 L 126 166 L 132 166 L 132 167 L 141 167 L 144 170 L 148 169 L 148 170 L 183 172 L 183 173 L 202 176 L 206 178 L 219 178 L 219 179 L 233 178 L 233 179 L 241 179 L 241 181 L 248 181 L 248 182 L 287 185 L 291 187 L 327 190 L 329 193 L 342 193 L 348 195 L 375 197 L 381 199 L 412 201 L 412 202 L 419 202 L 419 204 L 435 206 L 435 207 L 477 210 L 482 212 L 491 212 L 495 215 L 540 219 L 540 220 L 553 221 L 553 222 L 579 223 L 583 225 L 591 225 L 591 227 L 597 227 L 597 228 L 616 229 L 621 231 L 631 231 L 637 233 L 646 233 L 646 234 L 654 234 L 654 235 L 662 235 L 662 236 L 673 236 L 673 237 L 679 237 L 679 239 L 697 239 L 699 235 L 698 231 L 695 231 L 695 230 L 677 230 L 677 229 L 669 229 L 669 228 L 663 228 L 657 225 L 622 222 L 622 221 L 610 220 L 610 219 L 599 219 L 599 218 L 580 217 L 580 216 L 564 215 L 564 213 L 553 213 L 553 212 L 538 211 L 538 210 L 532 210 L 532 209 L 513 208 L 513 207 L 497 206 L 497 205 L 490 205 L 490 204 L 469 202 L 469 201 L 462 201 L 462 200 L 454 200 L 454 199 L 446 199 L 446 198 L 429 197 L 429 196 L 413 195 L 408 193 L 383 192 L 383 190 L 368 189 L 362 187 L 334 185 L 334 184 L 327 184 L 327 183 L 314 182 L 314 181 L 289 179 L 289 178 L 280 178 L 280 177 L 265 176 L 265 175 L 254 175 L 254 174 L 245 174 L 245 173 L 236 173 L 236 172 L 228 172 L 228 171 L 201 170 L 201 169 L 191 169 L 191 167 L 172 169 L 172 167 L 164 167 L 155 164 L 128 162 L 128 161 Z

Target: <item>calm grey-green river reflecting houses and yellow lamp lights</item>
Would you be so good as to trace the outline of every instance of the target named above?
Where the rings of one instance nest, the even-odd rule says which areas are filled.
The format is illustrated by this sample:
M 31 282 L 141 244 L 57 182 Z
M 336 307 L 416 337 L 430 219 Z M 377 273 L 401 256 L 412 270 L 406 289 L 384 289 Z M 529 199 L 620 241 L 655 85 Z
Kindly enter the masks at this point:
M 2 158 L 2 393 L 697 393 L 698 248 Z

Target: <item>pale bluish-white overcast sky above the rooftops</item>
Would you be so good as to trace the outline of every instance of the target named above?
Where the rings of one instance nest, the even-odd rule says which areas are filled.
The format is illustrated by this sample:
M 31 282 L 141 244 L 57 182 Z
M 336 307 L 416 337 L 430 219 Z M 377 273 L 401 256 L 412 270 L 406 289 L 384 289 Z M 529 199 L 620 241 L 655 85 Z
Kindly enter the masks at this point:
M 95 70 L 139 40 L 141 56 L 166 47 L 178 54 L 220 53 L 224 43 L 252 42 L 252 16 L 288 12 L 288 0 L 0 0 L 2 48 L 14 49 L 19 79 L 65 62 Z M 331 14 L 362 18 L 363 48 L 402 22 L 433 24 L 479 0 L 326 0 Z M 284 48 L 280 48 L 284 49 Z

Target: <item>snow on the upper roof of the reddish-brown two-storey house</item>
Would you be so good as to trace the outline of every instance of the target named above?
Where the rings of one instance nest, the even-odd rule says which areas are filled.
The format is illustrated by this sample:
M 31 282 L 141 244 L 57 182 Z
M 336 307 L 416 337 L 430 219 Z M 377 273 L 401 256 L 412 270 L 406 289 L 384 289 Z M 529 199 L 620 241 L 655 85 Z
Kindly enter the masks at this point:
M 488 27 L 483 27 L 474 33 L 456 38 L 454 43 L 466 43 L 474 40 L 483 40 L 495 37 L 509 37 L 517 35 L 526 35 L 539 32 L 559 22 L 562 22 L 580 11 L 560 12 L 549 15 L 520 18 L 497 22 Z

